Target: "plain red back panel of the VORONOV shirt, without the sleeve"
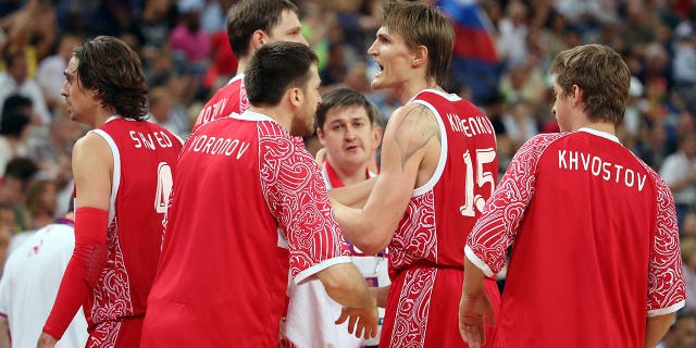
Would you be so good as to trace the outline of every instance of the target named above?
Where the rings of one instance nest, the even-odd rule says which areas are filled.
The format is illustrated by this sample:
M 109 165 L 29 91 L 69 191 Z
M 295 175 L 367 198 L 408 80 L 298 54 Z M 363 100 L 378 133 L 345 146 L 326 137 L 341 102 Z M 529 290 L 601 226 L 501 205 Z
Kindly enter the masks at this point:
M 266 120 L 216 120 L 186 141 L 148 302 L 148 347 L 163 341 L 208 347 L 231 337 L 277 341 L 277 330 L 268 337 L 268 328 L 277 327 L 269 321 L 283 314 L 288 257 L 262 194 L 261 176 L 277 173 L 260 167 L 259 153 L 263 141 L 295 145 Z

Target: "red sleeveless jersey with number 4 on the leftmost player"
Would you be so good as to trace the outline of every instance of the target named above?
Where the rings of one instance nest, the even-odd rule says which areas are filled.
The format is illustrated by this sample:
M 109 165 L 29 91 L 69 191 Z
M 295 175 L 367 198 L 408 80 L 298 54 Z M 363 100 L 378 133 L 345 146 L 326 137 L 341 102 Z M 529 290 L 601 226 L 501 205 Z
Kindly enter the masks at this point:
M 110 252 L 91 297 L 98 323 L 145 312 L 182 140 L 153 123 L 121 117 L 91 132 L 109 144 L 114 160 Z

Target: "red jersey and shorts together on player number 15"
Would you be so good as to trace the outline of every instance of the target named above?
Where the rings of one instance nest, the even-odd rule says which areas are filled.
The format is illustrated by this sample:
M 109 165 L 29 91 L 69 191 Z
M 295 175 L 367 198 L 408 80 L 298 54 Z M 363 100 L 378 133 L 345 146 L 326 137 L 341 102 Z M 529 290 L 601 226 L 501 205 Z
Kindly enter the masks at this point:
M 442 150 L 388 247 L 391 288 L 380 346 L 461 347 L 463 249 L 497 182 L 495 132 L 481 110 L 455 95 L 425 90 L 409 103 L 435 114 Z M 488 283 L 495 303 L 498 291 Z

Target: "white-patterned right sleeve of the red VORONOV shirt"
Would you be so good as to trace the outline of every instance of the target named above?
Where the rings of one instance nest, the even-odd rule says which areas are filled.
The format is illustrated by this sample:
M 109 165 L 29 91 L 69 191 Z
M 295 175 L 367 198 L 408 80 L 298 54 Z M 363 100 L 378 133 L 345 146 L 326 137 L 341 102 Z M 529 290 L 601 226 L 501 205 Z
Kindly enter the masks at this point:
M 261 186 L 288 239 L 295 282 L 350 262 L 319 165 L 302 142 L 282 134 L 260 140 Z

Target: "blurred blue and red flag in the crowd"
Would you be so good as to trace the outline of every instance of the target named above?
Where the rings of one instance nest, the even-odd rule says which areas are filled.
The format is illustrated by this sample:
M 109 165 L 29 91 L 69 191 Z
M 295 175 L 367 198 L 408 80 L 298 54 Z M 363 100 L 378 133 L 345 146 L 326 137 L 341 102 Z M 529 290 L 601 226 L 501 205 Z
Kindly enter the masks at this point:
M 476 0 L 440 0 L 437 5 L 455 26 L 453 77 L 472 89 L 474 99 L 498 88 L 502 64 L 493 27 Z

